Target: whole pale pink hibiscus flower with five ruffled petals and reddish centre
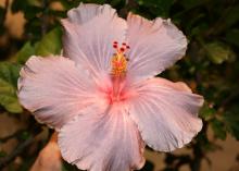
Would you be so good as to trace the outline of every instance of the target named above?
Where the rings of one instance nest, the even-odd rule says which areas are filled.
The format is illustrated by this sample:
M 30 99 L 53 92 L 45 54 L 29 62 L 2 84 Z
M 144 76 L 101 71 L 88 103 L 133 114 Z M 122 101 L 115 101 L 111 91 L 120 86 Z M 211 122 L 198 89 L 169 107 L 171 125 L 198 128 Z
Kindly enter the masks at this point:
M 80 4 L 62 24 L 63 57 L 32 57 L 18 98 L 59 132 L 66 161 L 90 171 L 140 169 L 146 144 L 172 151 L 201 130 L 203 98 L 154 77 L 186 52 L 169 20 L 129 13 L 125 21 L 108 4 Z

